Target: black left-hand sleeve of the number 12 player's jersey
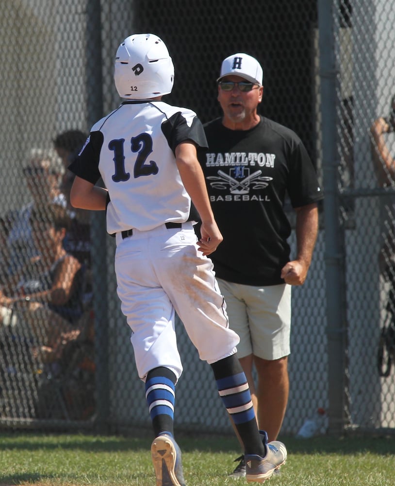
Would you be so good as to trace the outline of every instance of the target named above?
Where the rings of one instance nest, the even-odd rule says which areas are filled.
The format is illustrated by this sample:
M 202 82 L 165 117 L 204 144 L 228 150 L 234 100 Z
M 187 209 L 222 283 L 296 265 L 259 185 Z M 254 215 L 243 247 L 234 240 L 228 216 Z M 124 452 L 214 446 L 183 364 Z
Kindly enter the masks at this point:
M 68 169 L 78 177 L 96 184 L 100 178 L 99 158 L 103 145 L 103 134 L 91 132 L 79 156 L 68 166 Z

